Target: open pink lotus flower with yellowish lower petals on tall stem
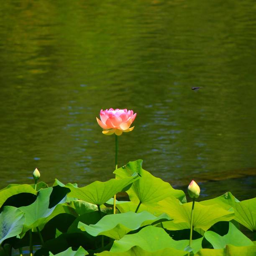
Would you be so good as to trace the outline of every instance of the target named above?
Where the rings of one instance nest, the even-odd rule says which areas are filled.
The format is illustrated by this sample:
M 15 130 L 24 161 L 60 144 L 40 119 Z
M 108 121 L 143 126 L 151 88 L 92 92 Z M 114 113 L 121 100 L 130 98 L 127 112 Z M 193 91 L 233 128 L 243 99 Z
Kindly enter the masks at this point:
M 113 109 L 100 110 L 100 120 L 97 122 L 101 128 L 103 134 L 112 135 L 115 133 L 120 136 L 123 132 L 128 133 L 132 131 L 134 126 L 130 128 L 133 120 L 136 118 L 136 113 L 133 114 L 133 110 L 125 109 Z

